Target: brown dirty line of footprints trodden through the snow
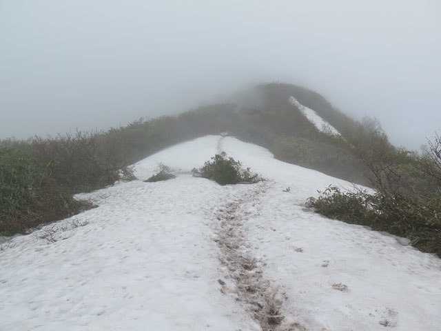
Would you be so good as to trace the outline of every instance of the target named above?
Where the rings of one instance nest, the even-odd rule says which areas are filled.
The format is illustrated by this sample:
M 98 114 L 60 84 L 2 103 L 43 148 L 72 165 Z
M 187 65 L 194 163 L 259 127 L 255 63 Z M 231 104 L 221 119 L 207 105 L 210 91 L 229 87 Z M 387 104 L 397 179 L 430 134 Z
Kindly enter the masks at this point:
M 217 152 L 223 152 L 223 137 L 217 144 Z M 256 259 L 244 230 L 243 219 L 253 217 L 262 207 L 260 195 L 265 194 L 269 182 L 249 185 L 244 192 L 229 194 L 214 213 L 216 243 L 220 248 L 219 261 L 228 271 L 227 279 L 218 279 L 221 292 L 236 295 L 246 305 L 250 316 L 262 330 L 306 330 L 298 323 L 285 323 L 283 303 L 287 294 L 270 279 L 265 279 L 265 263 Z M 250 212 L 249 207 L 256 208 Z

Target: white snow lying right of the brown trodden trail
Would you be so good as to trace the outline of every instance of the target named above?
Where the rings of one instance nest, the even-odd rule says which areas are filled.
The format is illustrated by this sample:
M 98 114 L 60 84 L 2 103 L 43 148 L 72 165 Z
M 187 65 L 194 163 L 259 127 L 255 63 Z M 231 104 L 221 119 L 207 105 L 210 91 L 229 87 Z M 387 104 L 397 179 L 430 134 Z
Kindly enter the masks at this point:
M 245 153 L 245 148 L 236 139 L 223 140 L 225 152 L 243 155 L 247 166 L 273 179 L 254 206 L 243 205 L 247 237 L 267 263 L 264 273 L 283 284 L 287 304 L 304 325 L 318 323 L 325 330 L 441 328 L 440 259 L 380 232 L 307 210 L 305 200 L 316 195 L 311 191 L 329 183 L 350 184 L 296 165 L 276 165 L 279 161 L 269 161 L 267 150 L 256 146 Z M 283 192 L 287 186 L 290 192 Z M 347 285 L 345 291 L 333 288 L 340 283 Z

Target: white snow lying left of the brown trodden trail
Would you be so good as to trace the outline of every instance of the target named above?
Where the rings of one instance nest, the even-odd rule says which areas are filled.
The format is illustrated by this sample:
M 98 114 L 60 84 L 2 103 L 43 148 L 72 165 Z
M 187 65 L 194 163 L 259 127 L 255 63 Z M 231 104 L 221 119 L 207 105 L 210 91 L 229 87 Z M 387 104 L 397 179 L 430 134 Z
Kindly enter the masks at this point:
M 175 150 L 173 165 L 198 165 L 216 144 L 201 160 Z M 152 158 L 138 175 L 154 168 Z M 55 243 L 19 237 L 0 253 L 0 330 L 258 330 L 219 291 L 207 214 L 226 193 L 183 174 L 79 194 L 99 205 L 76 215 L 88 225 Z

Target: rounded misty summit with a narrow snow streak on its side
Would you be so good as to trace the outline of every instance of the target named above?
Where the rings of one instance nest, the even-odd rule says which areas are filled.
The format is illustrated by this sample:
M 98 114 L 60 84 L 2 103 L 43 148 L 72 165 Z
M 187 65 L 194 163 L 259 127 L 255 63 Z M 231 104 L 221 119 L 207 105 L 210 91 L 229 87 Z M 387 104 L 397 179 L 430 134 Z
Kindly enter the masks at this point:
M 282 161 L 349 181 L 364 170 L 346 137 L 359 123 L 317 92 L 287 83 L 267 83 L 216 99 L 181 114 L 201 121 L 207 134 L 228 132 L 271 150 Z

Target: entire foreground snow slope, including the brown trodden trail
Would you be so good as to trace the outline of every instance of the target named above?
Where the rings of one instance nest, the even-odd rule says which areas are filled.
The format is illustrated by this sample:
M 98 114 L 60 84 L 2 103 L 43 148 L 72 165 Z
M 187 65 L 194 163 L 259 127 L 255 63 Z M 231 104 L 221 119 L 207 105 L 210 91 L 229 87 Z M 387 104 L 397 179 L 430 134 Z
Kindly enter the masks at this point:
M 219 150 L 267 181 L 189 174 Z M 178 177 L 144 183 L 158 162 Z M 217 136 L 136 174 L 81 194 L 99 207 L 52 225 L 55 242 L 46 228 L 3 245 L 0 330 L 441 330 L 440 259 L 305 208 L 349 183 Z

